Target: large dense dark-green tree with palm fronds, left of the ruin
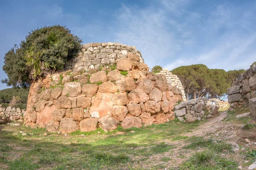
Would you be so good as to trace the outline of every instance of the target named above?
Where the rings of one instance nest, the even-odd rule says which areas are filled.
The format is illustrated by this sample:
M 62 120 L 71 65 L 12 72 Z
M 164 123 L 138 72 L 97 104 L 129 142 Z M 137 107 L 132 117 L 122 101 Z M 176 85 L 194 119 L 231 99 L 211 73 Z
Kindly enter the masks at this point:
M 33 79 L 63 69 L 68 59 L 78 54 L 81 39 L 65 26 L 44 26 L 14 45 L 4 57 L 3 70 L 9 86 L 27 87 Z

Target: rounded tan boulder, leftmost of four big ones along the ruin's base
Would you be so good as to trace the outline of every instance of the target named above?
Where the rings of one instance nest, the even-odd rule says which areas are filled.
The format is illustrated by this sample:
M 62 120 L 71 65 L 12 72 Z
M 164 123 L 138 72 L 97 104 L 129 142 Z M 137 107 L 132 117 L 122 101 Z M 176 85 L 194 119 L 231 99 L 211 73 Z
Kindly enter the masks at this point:
M 78 130 L 78 124 L 73 118 L 63 118 L 60 122 L 61 133 L 71 133 Z

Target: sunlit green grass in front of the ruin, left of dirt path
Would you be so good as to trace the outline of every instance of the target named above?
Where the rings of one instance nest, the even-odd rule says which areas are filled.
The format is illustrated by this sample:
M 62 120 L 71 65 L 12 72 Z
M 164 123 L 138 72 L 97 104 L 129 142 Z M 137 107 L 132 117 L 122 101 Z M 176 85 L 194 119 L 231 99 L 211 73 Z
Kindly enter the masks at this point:
M 183 132 L 199 125 L 199 122 L 172 121 L 142 128 L 119 126 L 113 132 L 101 128 L 92 132 L 76 131 L 68 136 L 48 132 L 45 136 L 45 128 L 4 125 L 0 132 L 0 169 L 141 169 L 141 165 L 151 162 L 152 156 L 164 155 L 175 148 L 163 140 L 183 140 Z M 20 130 L 27 135 L 22 136 Z

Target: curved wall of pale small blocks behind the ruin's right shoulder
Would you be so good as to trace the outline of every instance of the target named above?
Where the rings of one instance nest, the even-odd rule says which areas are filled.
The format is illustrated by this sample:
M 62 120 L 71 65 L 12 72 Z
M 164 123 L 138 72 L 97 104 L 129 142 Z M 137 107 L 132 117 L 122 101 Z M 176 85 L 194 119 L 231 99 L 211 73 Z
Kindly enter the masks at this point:
M 185 91 L 184 91 L 183 85 L 180 82 L 180 79 L 179 79 L 179 77 L 177 77 L 177 75 L 172 74 L 171 72 L 169 72 L 167 68 L 163 68 L 163 70 L 160 71 L 160 73 L 157 73 L 157 74 L 164 74 L 166 76 L 166 79 L 167 79 L 168 83 L 170 83 L 172 86 L 176 86 L 178 89 L 180 89 L 181 92 L 182 92 L 183 102 L 186 102 Z

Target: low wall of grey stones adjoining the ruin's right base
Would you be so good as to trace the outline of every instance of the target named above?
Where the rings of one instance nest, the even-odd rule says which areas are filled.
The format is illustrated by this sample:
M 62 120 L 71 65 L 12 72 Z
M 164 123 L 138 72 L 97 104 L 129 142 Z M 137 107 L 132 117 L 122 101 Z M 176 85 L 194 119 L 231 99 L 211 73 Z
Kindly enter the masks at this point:
M 175 115 L 180 121 L 195 122 L 205 118 L 211 118 L 218 114 L 217 105 L 207 105 L 207 98 L 192 99 L 188 102 L 181 102 L 174 107 Z

